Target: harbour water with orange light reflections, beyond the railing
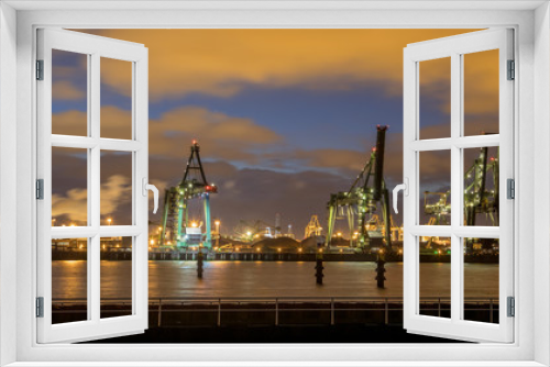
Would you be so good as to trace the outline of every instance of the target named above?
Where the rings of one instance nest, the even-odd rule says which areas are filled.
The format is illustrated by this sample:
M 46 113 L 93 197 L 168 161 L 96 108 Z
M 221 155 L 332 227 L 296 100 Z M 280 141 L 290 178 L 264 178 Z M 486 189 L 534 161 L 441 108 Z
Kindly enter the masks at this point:
M 53 262 L 54 298 L 86 297 L 86 262 Z M 101 262 L 101 296 L 131 296 L 131 262 Z M 312 262 L 148 262 L 150 298 L 158 297 L 400 297 L 403 263 L 386 264 L 386 288 L 376 288 L 374 263 L 324 263 L 323 286 Z M 422 296 L 449 297 L 448 263 L 421 264 Z M 468 297 L 496 297 L 497 264 L 468 264 Z M 426 281 L 424 279 L 427 279 Z M 494 290 L 494 291 L 492 291 Z

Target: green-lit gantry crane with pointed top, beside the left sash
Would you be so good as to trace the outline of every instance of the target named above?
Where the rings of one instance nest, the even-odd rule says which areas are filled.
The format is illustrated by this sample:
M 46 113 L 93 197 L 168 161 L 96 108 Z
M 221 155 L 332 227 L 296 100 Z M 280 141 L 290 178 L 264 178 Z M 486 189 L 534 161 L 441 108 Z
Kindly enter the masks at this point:
M 218 192 L 218 187 L 208 184 L 199 152 L 199 144 L 194 140 L 182 181 L 165 191 L 161 245 L 173 244 L 177 247 L 202 245 L 207 248 L 212 246 L 210 193 Z M 191 200 L 202 200 L 204 215 L 200 215 L 200 220 L 189 218 Z M 202 232 L 202 224 L 205 224 L 205 232 Z M 168 241 L 168 229 L 172 241 Z

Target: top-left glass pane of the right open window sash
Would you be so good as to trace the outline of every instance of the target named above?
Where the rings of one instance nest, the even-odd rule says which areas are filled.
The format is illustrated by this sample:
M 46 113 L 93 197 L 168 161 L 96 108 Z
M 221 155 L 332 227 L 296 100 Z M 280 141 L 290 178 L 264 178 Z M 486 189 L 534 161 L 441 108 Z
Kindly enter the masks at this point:
M 451 58 L 419 63 L 420 138 L 451 136 Z

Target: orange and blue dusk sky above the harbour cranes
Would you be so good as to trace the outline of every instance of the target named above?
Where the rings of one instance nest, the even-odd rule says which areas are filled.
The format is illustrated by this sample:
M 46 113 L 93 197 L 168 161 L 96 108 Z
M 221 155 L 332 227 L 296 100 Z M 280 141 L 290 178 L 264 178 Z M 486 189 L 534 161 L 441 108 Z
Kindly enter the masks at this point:
M 326 227 L 330 193 L 350 188 L 375 145 L 377 124 L 389 125 L 386 184 L 393 189 L 402 181 L 403 49 L 465 31 L 87 32 L 148 48 L 150 181 L 162 193 L 182 179 L 190 142 L 197 138 L 207 179 L 219 187 L 211 207 L 222 233 L 231 233 L 240 220 L 274 224 L 280 213 L 283 227 L 293 224 L 301 238 L 312 214 Z M 466 134 L 497 133 L 495 55 L 466 56 Z M 420 68 L 421 137 L 447 137 L 449 65 L 444 59 L 429 63 Z M 86 58 L 54 54 L 53 93 L 53 132 L 85 135 Z M 129 63 L 102 60 L 103 137 L 130 137 L 130 94 Z M 53 159 L 56 225 L 81 223 L 86 152 L 54 148 Z M 101 159 L 102 219 L 112 218 L 114 224 L 130 224 L 130 162 L 128 154 L 108 152 Z M 422 167 L 428 167 L 426 189 L 448 186 L 449 160 L 435 155 Z M 152 221 L 160 218 L 150 214 Z M 394 219 L 402 223 L 400 216 Z

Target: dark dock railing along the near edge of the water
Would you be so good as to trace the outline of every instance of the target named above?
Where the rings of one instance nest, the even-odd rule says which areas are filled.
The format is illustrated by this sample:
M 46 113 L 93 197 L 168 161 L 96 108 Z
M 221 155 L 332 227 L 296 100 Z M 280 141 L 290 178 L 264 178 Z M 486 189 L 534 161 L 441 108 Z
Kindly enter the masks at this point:
M 86 312 L 85 299 L 54 299 L 54 320 Z M 131 313 L 131 299 L 101 299 L 101 316 Z M 419 313 L 449 318 L 450 298 L 426 297 Z M 402 297 L 160 297 L 150 298 L 150 327 L 403 323 Z M 466 320 L 498 322 L 498 298 L 465 298 Z

